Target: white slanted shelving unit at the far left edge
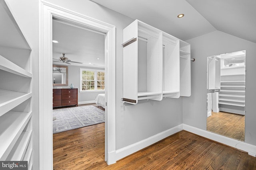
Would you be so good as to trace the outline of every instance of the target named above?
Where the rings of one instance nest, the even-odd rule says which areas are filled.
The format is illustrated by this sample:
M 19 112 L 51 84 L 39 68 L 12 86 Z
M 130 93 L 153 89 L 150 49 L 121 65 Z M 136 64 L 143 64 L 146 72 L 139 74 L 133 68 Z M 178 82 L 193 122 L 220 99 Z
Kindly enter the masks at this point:
M 0 160 L 32 169 L 31 49 L 8 4 L 0 0 Z

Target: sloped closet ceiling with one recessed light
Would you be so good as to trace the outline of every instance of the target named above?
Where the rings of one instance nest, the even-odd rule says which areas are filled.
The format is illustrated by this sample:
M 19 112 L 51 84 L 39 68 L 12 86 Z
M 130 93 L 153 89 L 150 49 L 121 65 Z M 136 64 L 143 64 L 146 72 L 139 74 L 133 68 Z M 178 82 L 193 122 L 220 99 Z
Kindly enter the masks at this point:
M 256 0 L 91 1 L 182 40 L 219 30 L 256 43 Z

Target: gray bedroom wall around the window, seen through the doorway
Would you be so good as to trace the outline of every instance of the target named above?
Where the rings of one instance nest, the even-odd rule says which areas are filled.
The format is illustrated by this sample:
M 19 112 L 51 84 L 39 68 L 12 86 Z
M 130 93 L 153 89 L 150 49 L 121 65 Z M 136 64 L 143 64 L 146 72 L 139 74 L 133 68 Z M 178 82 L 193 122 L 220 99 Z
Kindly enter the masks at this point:
M 78 88 L 78 102 L 94 101 L 98 94 L 105 92 L 80 92 L 80 68 L 104 70 L 103 68 L 68 65 L 68 86 L 53 86 L 53 88 L 70 88 L 70 84 L 72 83 L 74 88 Z

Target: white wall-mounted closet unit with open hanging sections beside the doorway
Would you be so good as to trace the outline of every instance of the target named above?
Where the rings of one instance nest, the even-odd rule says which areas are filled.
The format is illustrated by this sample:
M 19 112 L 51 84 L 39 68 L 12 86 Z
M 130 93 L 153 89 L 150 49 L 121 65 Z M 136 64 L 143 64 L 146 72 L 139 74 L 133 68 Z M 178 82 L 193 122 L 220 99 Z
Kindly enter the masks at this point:
M 190 45 L 142 21 L 123 31 L 123 101 L 190 96 Z M 180 53 L 182 53 L 180 55 Z M 180 63 L 180 58 L 184 62 Z M 184 72 L 183 77 L 180 71 Z M 186 83 L 180 86 L 180 82 Z

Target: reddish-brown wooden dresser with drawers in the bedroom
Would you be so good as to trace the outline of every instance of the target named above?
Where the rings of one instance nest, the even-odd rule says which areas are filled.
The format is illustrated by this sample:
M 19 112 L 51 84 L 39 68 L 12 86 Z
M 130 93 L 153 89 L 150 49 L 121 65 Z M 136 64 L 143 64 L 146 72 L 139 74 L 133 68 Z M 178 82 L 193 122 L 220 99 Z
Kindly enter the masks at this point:
M 77 88 L 53 89 L 52 93 L 52 107 L 78 106 Z

